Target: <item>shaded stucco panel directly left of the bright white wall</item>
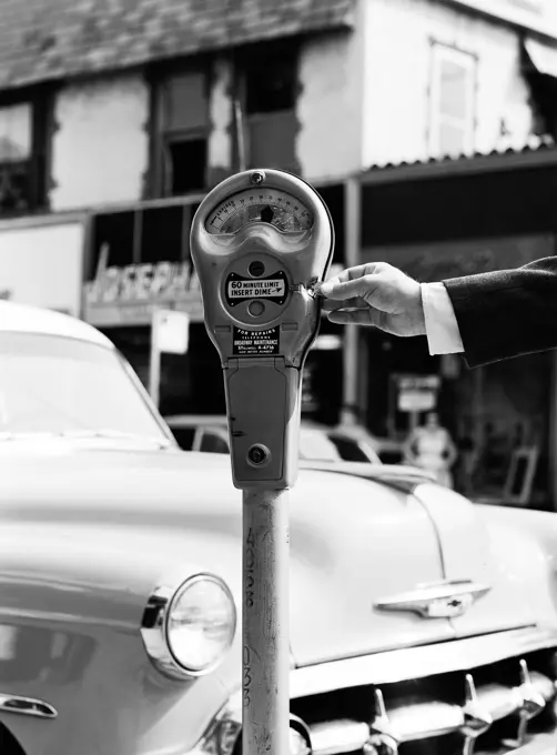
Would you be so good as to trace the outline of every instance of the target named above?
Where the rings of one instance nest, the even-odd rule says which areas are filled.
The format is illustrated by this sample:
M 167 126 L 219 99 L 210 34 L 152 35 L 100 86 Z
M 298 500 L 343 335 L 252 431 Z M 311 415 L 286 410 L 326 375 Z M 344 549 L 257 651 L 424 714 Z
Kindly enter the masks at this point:
M 307 41 L 300 61 L 296 158 L 310 180 L 343 178 L 362 167 L 364 24 Z

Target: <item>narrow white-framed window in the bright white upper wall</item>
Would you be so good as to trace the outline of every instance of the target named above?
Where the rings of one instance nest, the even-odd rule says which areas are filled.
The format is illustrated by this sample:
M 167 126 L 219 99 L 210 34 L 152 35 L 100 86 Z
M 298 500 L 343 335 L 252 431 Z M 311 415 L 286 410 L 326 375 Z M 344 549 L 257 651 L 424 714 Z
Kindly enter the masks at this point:
M 432 47 L 429 154 L 474 152 L 476 58 L 444 44 Z

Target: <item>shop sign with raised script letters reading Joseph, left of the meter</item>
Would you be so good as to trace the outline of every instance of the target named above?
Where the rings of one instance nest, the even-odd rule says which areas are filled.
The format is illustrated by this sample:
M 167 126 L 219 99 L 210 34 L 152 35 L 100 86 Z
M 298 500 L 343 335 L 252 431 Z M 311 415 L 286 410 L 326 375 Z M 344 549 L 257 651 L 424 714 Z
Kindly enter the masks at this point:
M 203 320 L 199 279 L 189 261 L 101 266 L 85 283 L 84 319 L 93 325 L 150 324 L 161 306 Z

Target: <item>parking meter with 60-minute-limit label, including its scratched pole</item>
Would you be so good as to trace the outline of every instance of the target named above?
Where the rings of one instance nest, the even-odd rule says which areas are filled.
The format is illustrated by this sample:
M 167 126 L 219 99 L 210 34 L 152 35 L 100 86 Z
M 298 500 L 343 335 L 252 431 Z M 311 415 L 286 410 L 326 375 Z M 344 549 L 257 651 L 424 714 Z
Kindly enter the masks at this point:
M 302 373 L 333 248 L 324 202 L 277 170 L 226 179 L 192 224 L 205 326 L 223 368 L 233 483 L 243 494 L 244 755 L 290 752 L 288 489 Z

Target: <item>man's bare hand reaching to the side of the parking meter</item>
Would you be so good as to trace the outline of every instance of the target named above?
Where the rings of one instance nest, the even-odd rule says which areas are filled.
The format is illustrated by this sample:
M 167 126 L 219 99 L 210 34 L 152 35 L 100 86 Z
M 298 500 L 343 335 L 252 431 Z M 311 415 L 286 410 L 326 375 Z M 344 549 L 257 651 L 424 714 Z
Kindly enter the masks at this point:
M 375 325 L 394 335 L 424 335 L 422 289 L 386 262 L 348 268 L 321 286 L 331 322 Z

